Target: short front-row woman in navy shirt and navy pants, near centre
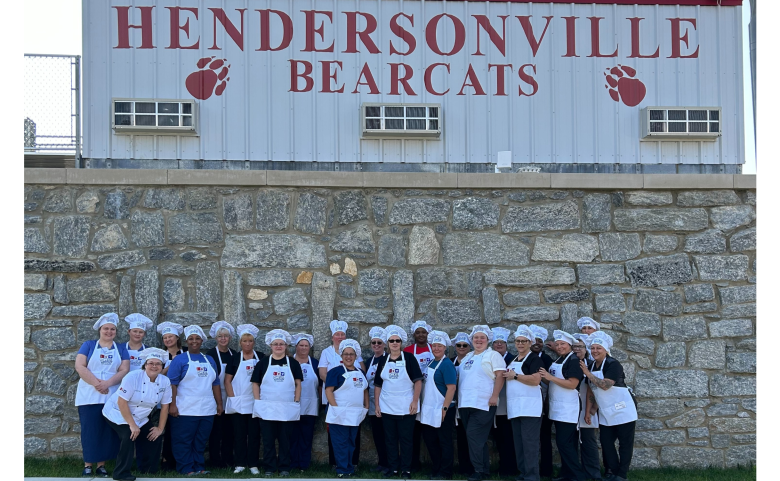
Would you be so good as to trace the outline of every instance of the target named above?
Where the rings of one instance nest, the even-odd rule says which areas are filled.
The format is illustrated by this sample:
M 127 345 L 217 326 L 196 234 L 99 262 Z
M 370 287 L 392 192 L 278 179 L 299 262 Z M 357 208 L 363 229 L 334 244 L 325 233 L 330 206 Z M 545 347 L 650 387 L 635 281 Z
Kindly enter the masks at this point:
M 325 395 L 328 398 L 325 422 L 336 455 L 336 476 L 344 478 L 355 474 L 352 454 L 357 444 L 358 426 L 368 413 L 368 380 L 355 366 L 355 360 L 362 358 L 357 341 L 341 341 L 339 355 L 344 363 L 339 368 L 331 369 L 325 381 Z

